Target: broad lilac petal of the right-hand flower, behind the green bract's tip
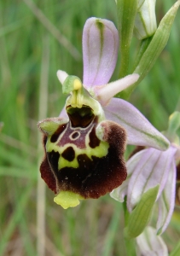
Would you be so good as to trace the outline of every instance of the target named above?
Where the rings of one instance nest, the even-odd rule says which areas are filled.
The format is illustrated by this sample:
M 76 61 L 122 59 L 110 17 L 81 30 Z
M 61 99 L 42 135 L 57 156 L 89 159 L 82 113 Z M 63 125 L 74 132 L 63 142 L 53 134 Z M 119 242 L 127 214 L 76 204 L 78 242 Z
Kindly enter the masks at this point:
M 139 155 L 142 157 L 137 165 L 134 166 L 134 172 L 128 185 L 127 207 L 129 211 L 132 211 L 133 207 L 140 201 L 143 193 L 157 184 L 160 184 L 157 199 L 160 197 L 162 190 L 165 188 L 175 153 L 176 148 L 170 147 L 165 152 L 148 148 L 137 154 L 138 158 Z M 132 158 L 136 158 L 136 154 Z

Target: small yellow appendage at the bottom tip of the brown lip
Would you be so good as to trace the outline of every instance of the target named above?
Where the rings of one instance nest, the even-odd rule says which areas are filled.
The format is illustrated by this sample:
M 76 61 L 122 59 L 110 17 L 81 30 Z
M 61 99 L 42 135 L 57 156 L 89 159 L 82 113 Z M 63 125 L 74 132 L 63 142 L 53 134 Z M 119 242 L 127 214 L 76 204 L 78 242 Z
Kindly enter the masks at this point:
M 71 191 L 61 191 L 58 195 L 55 196 L 54 201 L 57 205 L 67 209 L 69 207 L 77 207 L 80 203 L 79 200 L 83 199 L 84 197 Z

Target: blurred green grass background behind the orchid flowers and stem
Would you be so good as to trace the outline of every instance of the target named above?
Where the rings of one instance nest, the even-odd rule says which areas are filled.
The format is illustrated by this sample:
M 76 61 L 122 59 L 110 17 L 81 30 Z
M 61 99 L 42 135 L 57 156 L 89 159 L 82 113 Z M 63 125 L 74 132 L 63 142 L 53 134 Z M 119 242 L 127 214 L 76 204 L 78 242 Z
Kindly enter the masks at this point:
M 175 1 L 157 1 L 157 20 Z M 58 69 L 82 78 L 82 31 L 96 16 L 113 20 L 113 0 L 0 0 L 0 255 L 125 255 L 122 206 L 109 195 L 63 210 L 38 177 L 43 159 L 39 119 L 65 103 Z M 131 102 L 163 131 L 180 111 L 180 11 L 159 61 Z M 131 48 L 131 63 L 136 55 Z M 118 79 L 119 62 L 113 79 Z M 169 250 L 180 237 L 176 208 L 163 235 Z

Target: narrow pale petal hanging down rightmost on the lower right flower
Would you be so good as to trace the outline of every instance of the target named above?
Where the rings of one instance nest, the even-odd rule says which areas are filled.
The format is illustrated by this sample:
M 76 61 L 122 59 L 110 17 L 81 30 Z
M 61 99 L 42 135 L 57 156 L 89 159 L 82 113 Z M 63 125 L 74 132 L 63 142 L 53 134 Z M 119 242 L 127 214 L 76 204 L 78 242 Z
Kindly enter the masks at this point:
M 159 203 L 159 217 L 157 222 L 158 235 L 162 234 L 167 225 L 170 223 L 171 215 L 175 205 L 175 193 L 176 193 L 176 164 L 172 161 L 171 168 L 169 170 L 168 178 L 165 183 L 165 189 L 158 200 Z

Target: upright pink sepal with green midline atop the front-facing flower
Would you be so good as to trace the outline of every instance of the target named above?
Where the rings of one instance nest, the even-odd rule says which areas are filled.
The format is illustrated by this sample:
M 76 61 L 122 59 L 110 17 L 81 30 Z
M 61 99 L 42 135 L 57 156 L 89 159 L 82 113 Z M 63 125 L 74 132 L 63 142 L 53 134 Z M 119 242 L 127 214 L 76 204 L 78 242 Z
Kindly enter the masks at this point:
M 119 34 L 112 21 L 90 18 L 83 32 L 85 88 L 107 84 L 113 74 L 119 49 Z

